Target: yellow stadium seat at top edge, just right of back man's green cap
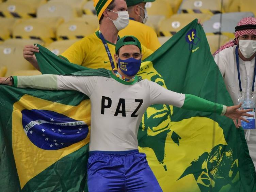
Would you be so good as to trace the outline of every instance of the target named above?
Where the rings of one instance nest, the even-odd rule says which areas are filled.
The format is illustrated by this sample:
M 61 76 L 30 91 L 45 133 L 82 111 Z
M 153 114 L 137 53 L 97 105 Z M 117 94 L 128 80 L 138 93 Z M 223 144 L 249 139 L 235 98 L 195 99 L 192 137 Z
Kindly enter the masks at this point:
M 157 0 L 155 2 L 146 3 L 148 15 L 163 15 L 169 18 L 173 15 L 172 7 L 170 3 L 165 0 Z

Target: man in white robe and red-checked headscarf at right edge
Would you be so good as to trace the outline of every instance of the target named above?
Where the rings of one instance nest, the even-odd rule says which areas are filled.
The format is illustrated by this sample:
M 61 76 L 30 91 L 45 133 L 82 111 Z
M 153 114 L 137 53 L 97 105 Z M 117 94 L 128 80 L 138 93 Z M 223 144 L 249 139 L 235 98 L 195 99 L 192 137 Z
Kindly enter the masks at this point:
M 224 78 L 227 90 L 235 104 L 243 103 L 242 107 L 255 108 L 256 93 L 256 18 L 246 17 L 238 22 L 233 42 L 228 42 L 214 54 Z M 239 80 L 240 79 L 240 80 Z M 241 121 L 234 121 L 241 126 Z M 244 128 L 247 125 L 242 125 Z M 248 127 L 250 128 L 250 127 Z M 256 131 L 255 123 L 246 131 L 250 156 L 256 167 Z M 249 141 L 250 140 L 250 141 Z

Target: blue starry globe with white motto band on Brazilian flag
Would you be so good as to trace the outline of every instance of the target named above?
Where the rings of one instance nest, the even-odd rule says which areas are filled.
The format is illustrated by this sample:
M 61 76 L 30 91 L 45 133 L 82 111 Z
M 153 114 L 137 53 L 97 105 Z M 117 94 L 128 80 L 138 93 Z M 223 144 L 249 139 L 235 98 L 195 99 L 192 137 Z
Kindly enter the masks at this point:
M 22 126 L 29 140 L 45 150 L 58 150 L 86 138 L 83 121 L 48 110 L 22 110 Z

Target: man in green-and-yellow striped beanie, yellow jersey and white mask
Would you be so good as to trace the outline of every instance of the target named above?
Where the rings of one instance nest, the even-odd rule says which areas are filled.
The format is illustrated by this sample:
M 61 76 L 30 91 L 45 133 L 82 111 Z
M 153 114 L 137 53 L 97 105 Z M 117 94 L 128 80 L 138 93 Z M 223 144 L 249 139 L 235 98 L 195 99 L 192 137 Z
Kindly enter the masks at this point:
M 99 31 L 88 35 L 71 45 L 60 57 L 71 63 L 89 68 L 113 69 L 115 44 L 118 32 L 129 23 L 129 15 L 125 0 L 94 0 L 94 6 L 99 19 Z M 23 57 L 38 70 L 34 52 L 39 52 L 38 47 L 25 46 Z M 153 51 L 142 46 L 143 58 L 147 58 Z

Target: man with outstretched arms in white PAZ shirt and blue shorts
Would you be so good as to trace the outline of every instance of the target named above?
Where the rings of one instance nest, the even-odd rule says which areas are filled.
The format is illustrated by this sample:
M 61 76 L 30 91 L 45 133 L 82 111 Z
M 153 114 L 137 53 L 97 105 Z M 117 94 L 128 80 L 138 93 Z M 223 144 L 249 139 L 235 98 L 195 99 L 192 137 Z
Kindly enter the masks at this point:
M 205 99 L 164 89 L 135 76 L 141 66 L 141 44 L 124 36 L 115 48 L 117 71 L 92 69 L 79 75 L 40 75 L 0 78 L 0 84 L 43 90 L 76 90 L 91 100 L 91 137 L 87 164 L 89 191 L 160 192 L 144 153 L 138 151 L 137 133 L 145 110 L 154 104 L 208 111 L 231 119 L 252 116 L 241 105 L 226 107 Z M 100 73 L 98 72 L 100 71 Z M 92 76 L 93 73 L 98 74 Z M 84 74 L 84 75 L 81 75 Z

